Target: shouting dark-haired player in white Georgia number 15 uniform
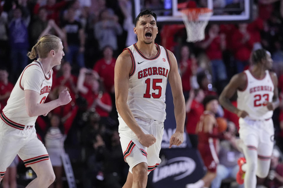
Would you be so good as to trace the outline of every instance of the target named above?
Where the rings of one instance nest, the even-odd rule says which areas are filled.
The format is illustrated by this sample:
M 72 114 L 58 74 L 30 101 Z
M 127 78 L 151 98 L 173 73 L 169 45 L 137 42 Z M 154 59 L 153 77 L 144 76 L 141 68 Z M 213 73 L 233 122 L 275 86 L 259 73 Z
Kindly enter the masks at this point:
M 185 123 L 185 99 L 176 58 L 154 43 L 158 33 L 156 14 L 142 11 L 136 17 L 134 33 L 138 42 L 120 54 L 114 76 L 121 147 L 130 167 L 123 188 L 145 188 L 147 175 L 161 162 L 167 78 L 177 123 L 169 148 L 183 142 Z

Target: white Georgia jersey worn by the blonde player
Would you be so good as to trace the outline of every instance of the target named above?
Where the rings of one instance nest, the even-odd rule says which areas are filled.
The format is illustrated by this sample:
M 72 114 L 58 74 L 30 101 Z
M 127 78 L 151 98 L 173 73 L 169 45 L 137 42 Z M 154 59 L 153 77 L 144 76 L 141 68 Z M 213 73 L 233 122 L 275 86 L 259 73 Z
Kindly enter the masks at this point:
M 5 122 L 14 123 L 13 126 L 16 127 L 18 124 L 24 126 L 34 125 L 37 116 L 29 117 L 29 115 L 27 115 L 24 90 L 36 91 L 39 93 L 37 103 L 44 103 L 51 89 L 52 73 L 53 70 L 51 69 L 49 73 L 45 75 L 39 60 L 33 61 L 26 66 L 11 92 L 1 118 L 4 118 Z

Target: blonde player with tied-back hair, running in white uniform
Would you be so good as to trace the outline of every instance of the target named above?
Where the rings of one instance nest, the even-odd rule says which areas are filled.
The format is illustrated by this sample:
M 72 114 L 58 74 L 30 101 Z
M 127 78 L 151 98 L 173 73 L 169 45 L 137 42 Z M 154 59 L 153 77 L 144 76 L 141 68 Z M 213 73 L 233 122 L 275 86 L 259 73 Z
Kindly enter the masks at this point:
M 31 167 L 37 175 L 28 188 L 47 188 L 55 180 L 48 153 L 37 138 L 34 123 L 39 115 L 47 115 L 54 108 L 68 104 L 67 89 L 59 98 L 44 103 L 52 85 L 52 67 L 60 65 L 62 41 L 54 35 L 42 36 L 27 54 L 39 57 L 26 66 L 14 86 L 7 105 L 0 114 L 0 181 L 15 156 Z

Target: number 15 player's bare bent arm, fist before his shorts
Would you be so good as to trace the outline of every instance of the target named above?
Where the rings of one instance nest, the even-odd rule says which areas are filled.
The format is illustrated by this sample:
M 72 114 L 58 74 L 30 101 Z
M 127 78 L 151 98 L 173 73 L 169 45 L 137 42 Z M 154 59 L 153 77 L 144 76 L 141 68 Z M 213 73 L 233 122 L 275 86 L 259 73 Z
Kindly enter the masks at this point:
M 116 108 L 128 127 L 136 134 L 139 142 L 145 147 L 149 147 L 156 142 L 153 135 L 146 135 L 136 123 L 134 115 L 127 105 L 129 91 L 129 74 L 132 67 L 132 59 L 128 51 L 122 52 L 117 58 L 114 72 L 114 86 Z

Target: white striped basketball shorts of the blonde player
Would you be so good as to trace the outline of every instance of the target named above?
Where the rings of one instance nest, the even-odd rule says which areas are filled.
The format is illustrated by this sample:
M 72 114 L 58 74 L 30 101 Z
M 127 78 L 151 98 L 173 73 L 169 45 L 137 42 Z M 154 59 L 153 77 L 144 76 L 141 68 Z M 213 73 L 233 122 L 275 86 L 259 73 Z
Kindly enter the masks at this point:
M 9 167 L 17 154 L 24 161 L 26 167 L 29 167 L 30 164 L 49 159 L 45 146 L 37 138 L 34 126 L 16 124 L 23 127 L 23 130 L 21 130 L 12 127 L 14 124 L 15 122 L 12 122 L 8 118 L 3 120 L 1 117 L 0 119 L 1 177 L 4 177 L 6 168 Z

